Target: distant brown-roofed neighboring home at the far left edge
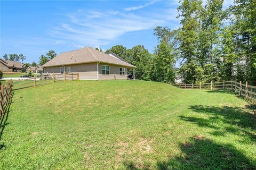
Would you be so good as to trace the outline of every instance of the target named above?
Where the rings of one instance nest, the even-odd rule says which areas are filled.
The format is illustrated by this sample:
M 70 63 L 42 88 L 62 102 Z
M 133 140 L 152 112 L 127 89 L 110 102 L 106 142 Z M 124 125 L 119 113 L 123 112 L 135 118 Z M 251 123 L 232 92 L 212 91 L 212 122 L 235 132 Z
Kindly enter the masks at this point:
M 10 61 L 10 60 L 3 60 L 2 58 L 0 58 L 0 70 L 1 71 L 21 71 L 22 68 L 26 69 L 26 65 L 22 64 L 20 62 L 14 62 L 14 61 Z

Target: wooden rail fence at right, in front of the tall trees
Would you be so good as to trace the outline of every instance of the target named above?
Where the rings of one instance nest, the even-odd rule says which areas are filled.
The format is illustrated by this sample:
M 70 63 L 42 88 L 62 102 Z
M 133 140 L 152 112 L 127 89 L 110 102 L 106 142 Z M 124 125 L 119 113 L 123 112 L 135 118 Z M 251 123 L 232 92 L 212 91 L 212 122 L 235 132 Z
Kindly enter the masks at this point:
M 210 82 L 210 83 L 191 83 L 191 84 L 175 84 L 175 87 L 182 89 L 230 89 L 239 94 L 239 96 L 244 96 L 246 99 L 250 99 L 256 103 L 256 86 L 251 86 L 246 81 L 245 84 L 242 81 L 222 81 L 222 82 Z

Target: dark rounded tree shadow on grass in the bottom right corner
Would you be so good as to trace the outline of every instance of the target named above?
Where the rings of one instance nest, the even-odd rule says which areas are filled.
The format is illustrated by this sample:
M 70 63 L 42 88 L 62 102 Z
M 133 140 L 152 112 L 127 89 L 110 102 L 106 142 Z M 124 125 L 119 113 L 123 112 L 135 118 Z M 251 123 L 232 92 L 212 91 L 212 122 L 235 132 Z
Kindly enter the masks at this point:
M 181 143 L 182 155 L 158 162 L 157 169 L 255 169 L 250 160 L 232 145 L 220 145 L 203 137 Z

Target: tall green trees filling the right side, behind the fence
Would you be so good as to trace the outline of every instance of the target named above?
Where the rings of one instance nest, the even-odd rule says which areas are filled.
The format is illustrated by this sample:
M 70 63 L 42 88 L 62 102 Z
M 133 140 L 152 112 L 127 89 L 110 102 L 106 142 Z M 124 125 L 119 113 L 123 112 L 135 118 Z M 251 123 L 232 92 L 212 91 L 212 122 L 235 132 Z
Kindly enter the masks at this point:
M 256 1 L 185 0 L 178 7 L 177 58 L 184 82 L 241 80 L 256 84 Z

